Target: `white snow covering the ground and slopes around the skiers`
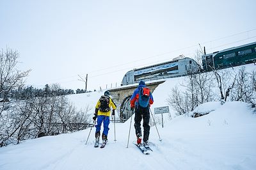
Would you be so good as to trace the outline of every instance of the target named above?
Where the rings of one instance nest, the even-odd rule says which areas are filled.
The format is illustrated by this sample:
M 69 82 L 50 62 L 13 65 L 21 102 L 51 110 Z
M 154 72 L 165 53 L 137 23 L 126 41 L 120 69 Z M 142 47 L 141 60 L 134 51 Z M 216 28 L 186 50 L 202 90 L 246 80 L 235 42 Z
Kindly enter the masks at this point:
M 182 77 L 168 79 L 154 91 L 154 107 L 166 105 L 166 98 Z M 70 95 L 77 107 L 92 107 L 102 93 Z M 15 146 L 0 148 L 0 169 L 255 169 L 256 114 L 243 102 L 220 105 L 209 102 L 198 106 L 205 116 L 164 114 L 164 127 L 150 128 L 150 155 L 143 155 L 135 141 L 132 117 L 129 147 L 127 139 L 131 120 L 109 125 L 106 148 L 93 148 L 95 128 L 72 134 L 41 137 Z M 173 110 L 170 108 L 170 112 Z

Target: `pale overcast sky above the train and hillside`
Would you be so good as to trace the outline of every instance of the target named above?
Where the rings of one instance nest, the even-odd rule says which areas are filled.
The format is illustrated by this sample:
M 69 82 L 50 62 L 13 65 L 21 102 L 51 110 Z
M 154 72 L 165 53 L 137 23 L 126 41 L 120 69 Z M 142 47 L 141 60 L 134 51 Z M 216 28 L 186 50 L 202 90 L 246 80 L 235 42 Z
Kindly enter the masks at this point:
M 20 53 L 26 84 L 120 86 L 126 72 L 256 42 L 256 1 L 0 1 L 0 48 Z

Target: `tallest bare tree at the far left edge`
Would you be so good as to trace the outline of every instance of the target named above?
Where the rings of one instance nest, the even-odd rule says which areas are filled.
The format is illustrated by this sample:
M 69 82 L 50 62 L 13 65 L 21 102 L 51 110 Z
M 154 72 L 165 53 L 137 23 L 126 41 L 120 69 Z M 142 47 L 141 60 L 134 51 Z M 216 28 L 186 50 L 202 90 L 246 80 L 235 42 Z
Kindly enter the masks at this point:
M 6 48 L 0 50 L 0 146 L 12 143 L 12 139 L 21 127 L 24 127 L 29 115 L 17 114 L 14 104 L 8 101 L 12 89 L 24 84 L 23 78 L 28 76 L 28 71 L 20 71 L 17 68 L 19 53 Z

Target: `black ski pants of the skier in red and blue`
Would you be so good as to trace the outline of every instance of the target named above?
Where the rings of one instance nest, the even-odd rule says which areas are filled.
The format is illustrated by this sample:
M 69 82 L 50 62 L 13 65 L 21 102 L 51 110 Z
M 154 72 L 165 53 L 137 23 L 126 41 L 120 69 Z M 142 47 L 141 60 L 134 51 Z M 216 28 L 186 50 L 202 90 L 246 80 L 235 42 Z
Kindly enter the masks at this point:
M 136 107 L 135 108 L 135 118 L 134 118 L 134 127 L 135 127 L 135 132 L 137 137 L 141 136 L 141 120 L 143 118 L 143 141 L 147 142 L 148 141 L 148 136 L 149 136 L 149 130 L 150 126 L 148 125 L 149 123 L 149 118 L 150 118 L 150 113 L 149 113 L 149 107 Z

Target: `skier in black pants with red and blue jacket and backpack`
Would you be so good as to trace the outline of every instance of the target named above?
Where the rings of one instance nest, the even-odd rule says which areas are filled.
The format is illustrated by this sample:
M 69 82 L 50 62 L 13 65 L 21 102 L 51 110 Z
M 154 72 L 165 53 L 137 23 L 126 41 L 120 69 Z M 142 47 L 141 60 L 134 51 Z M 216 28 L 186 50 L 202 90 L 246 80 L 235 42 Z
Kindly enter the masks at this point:
M 144 81 L 139 82 L 138 88 L 134 90 L 134 93 L 131 97 L 131 108 L 132 111 L 135 109 L 135 118 L 134 118 L 134 128 L 137 136 L 137 144 L 141 144 L 141 120 L 143 118 L 143 143 L 148 143 L 148 136 L 149 136 L 149 130 L 150 126 L 149 118 L 149 107 L 154 102 L 153 96 L 150 92 L 150 89 L 147 88 Z

